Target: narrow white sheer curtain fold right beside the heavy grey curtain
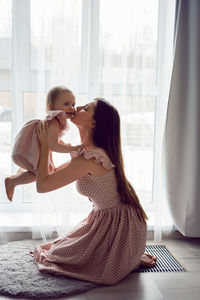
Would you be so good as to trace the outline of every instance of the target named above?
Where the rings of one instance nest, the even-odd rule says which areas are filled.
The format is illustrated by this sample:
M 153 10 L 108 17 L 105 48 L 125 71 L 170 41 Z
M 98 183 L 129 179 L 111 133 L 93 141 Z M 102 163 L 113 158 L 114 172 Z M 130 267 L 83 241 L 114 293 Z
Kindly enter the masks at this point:
M 153 169 L 153 203 L 154 203 L 154 240 L 161 241 L 163 232 L 171 232 L 173 228 L 166 195 L 164 175 L 165 125 L 168 96 L 173 66 L 174 47 L 174 15 L 175 1 L 159 2 L 159 23 L 163 28 L 158 29 L 158 96 L 155 106 L 155 136 L 154 136 L 154 169 Z

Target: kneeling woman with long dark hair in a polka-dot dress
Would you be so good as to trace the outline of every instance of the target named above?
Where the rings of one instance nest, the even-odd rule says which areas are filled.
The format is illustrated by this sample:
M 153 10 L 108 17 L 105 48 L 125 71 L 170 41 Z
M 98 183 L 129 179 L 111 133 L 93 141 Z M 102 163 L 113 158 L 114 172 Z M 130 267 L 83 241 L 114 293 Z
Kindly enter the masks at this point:
M 37 190 L 49 192 L 76 180 L 78 191 L 93 202 L 93 210 L 70 233 L 37 247 L 35 262 L 40 271 L 116 284 L 140 264 L 156 263 L 155 257 L 144 254 L 147 216 L 124 174 L 119 114 L 97 98 L 78 107 L 71 121 L 87 147 L 50 175 L 47 127 L 38 126 Z

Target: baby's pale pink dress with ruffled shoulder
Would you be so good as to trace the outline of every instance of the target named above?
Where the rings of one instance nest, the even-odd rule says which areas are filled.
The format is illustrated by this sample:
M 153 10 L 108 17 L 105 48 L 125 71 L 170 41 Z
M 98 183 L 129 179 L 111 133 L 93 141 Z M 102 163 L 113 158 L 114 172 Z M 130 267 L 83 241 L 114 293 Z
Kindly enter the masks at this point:
M 46 120 L 49 122 L 56 118 L 60 124 L 60 135 L 67 130 L 66 114 L 61 110 L 48 112 Z M 12 160 L 16 165 L 28 171 L 36 171 L 40 158 L 40 145 L 35 132 L 35 127 L 40 120 L 35 119 L 27 122 L 15 138 L 12 151 Z

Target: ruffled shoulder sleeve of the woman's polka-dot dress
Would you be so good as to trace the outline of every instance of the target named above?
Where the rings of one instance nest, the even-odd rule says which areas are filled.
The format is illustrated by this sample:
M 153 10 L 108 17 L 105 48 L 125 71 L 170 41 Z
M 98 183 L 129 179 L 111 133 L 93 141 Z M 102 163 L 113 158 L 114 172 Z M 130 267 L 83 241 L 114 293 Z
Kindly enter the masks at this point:
M 111 162 L 108 155 L 103 151 L 99 149 L 91 149 L 91 150 L 85 150 L 83 152 L 83 156 L 86 159 L 94 158 L 96 163 L 102 163 L 103 167 L 111 170 L 115 167 L 115 165 Z

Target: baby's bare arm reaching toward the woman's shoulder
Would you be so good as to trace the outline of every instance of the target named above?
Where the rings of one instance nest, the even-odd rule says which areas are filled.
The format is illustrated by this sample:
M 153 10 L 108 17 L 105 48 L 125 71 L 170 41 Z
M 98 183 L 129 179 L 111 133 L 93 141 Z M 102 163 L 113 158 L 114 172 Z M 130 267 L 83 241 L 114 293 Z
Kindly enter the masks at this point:
M 49 124 L 48 129 L 48 146 L 52 151 L 60 153 L 69 153 L 73 150 L 82 148 L 83 145 L 71 146 L 64 142 L 59 142 L 60 124 L 58 120 L 53 119 Z

